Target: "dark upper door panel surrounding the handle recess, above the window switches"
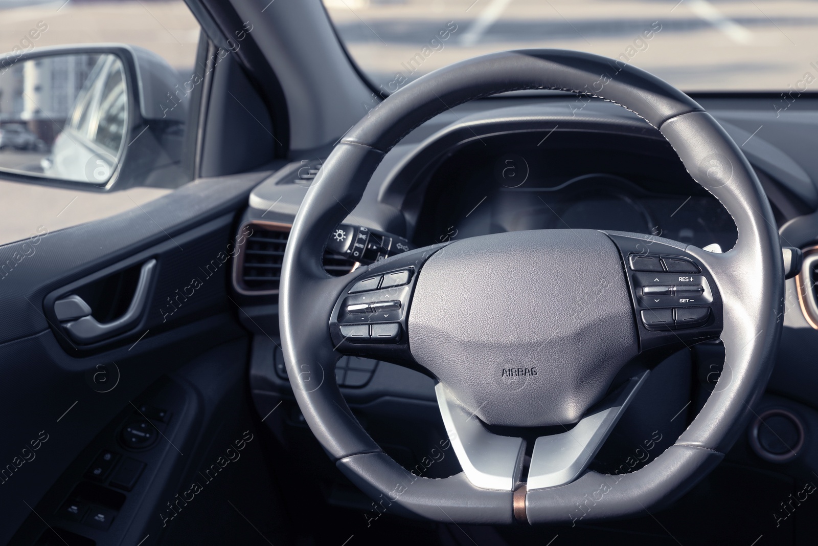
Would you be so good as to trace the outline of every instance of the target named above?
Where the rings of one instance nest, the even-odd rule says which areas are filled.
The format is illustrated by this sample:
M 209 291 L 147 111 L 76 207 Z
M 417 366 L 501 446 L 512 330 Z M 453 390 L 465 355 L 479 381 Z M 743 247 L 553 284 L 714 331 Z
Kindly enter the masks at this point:
M 0 246 L 0 543 L 130 400 L 196 354 L 245 336 L 227 296 L 228 245 L 236 211 L 265 175 L 201 179 L 110 218 Z M 70 341 L 44 305 L 72 282 L 146 259 L 157 261 L 146 313 L 107 344 Z

